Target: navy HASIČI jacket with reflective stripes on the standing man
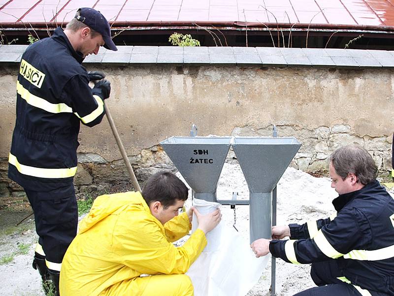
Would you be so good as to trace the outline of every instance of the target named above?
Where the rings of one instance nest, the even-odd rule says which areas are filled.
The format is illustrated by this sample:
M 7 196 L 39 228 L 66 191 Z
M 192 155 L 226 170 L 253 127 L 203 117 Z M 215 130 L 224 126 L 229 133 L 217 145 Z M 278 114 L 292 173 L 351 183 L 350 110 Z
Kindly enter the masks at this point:
M 8 177 L 24 188 L 47 191 L 72 184 L 80 121 L 92 127 L 104 115 L 82 61 L 61 28 L 22 55 Z M 57 174 L 65 168 L 74 173 Z

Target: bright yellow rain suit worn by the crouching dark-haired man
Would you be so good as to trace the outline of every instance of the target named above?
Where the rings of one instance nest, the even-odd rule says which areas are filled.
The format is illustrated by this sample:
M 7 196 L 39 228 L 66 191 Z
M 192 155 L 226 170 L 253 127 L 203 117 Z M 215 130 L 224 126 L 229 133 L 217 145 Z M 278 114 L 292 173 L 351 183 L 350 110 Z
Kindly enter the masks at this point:
M 61 296 L 193 296 L 184 273 L 205 248 L 205 234 L 198 229 L 182 247 L 171 243 L 190 229 L 187 213 L 163 226 L 139 192 L 97 197 L 63 259 Z

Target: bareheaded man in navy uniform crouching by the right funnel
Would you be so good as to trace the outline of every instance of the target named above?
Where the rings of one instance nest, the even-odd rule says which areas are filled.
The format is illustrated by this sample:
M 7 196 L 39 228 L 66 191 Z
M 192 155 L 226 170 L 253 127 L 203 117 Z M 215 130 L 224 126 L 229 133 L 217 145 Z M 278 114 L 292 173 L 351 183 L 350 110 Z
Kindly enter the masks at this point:
M 273 240 L 251 245 L 294 264 L 312 263 L 318 287 L 296 296 L 393 296 L 394 199 L 376 180 L 377 167 L 361 146 L 337 149 L 329 158 L 336 215 L 303 225 L 272 227 Z M 290 240 L 279 240 L 290 236 Z

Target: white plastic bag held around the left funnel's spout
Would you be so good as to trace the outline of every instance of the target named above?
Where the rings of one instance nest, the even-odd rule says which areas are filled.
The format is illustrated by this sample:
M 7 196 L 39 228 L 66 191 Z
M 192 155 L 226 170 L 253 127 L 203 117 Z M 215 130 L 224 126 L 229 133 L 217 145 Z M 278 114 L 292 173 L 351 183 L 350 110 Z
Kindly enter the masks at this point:
M 220 206 L 195 198 L 201 214 Z M 198 227 L 193 217 L 192 232 Z M 260 279 L 270 256 L 256 258 L 249 241 L 232 227 L 220 223 L 207 234 L 208 244 L 186 273 L 192 279 L 195 296 L 244 296 Z

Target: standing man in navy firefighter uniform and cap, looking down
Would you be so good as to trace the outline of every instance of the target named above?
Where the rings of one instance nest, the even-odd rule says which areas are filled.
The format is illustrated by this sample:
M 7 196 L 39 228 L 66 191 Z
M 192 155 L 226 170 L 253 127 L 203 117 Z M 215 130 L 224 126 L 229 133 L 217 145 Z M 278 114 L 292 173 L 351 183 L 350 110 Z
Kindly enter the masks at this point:
M 77 230 L 73 176 L 80 122 L 101 122 L 111 90 L 101 72 L 81 65 L 100 46 L 117 50 L 108 21 L 97 10 L 80 8 L 65 31 L 57 28 L 27 48 L 17 80 L 8 177 L 24 188 L 33 208 L 39 236 L 33 267 L 58 291 L 62 260 Z M 89 81 L 96 80 L 92 89 Z

